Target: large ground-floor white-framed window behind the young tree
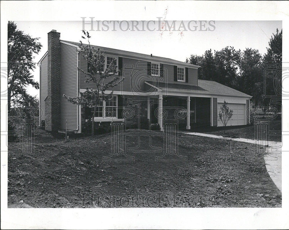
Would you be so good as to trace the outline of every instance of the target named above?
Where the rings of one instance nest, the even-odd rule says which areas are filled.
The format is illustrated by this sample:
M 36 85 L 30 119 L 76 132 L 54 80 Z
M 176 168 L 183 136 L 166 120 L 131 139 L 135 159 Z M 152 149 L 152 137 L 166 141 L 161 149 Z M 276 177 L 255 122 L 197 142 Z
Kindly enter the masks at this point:
M 91 108 L 91 115 L 94 107 Z M 101 101 L 96 107 L 95 117 L 97 118 L 116 118 L 117 117 L 117 96 L 113 96 L 110 101 Z

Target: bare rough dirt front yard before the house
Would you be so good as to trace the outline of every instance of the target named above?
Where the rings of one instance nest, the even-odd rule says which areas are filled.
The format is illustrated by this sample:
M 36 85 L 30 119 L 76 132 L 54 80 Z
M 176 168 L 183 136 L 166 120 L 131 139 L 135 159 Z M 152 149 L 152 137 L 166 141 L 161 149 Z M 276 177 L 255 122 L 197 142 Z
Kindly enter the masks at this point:
M 149 137 L 140 138 L 135 161 L 102 161 L 110 155 L 111 135 L 64 139 L 36 129 L 35 153 L 43 161 L 12 159 L 19 143 L 9 143 L 9 208 L 96 207 L 281 207 L 281 192 L 254 145 L 179 135 L 187 161 L 155 161 Z M 137 137 L 127 145 L 138 146 Z M 161 137 L 151 140 L 162 146 Z

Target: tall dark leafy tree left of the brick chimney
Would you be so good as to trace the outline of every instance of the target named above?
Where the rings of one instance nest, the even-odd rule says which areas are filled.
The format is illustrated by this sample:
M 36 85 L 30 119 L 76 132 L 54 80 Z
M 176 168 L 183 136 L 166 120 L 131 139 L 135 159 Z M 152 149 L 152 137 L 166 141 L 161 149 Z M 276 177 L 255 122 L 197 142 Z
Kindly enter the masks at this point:
M 31 73 L 36 67 L 33 55 L 38 54 L 42 47 L 38 39 L 17 30 L 16 24 L 8 21 L 8 114 L 11 102 L 19 104 L 29 98 L 26 86 L 39 89 Z

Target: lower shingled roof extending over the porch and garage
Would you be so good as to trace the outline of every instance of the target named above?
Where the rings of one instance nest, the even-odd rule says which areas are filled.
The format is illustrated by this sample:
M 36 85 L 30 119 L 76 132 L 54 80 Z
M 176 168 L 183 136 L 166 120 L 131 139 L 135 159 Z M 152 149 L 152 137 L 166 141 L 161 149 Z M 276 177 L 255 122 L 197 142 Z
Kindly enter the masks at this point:
M 198 80 L 198 86 L 189 85 L 188 83 L 163 83 L 158 82 L 155 84 L 152 81 L 145 81 L 146 84 L 153 85 L 158 90 L 166 90 L 168 92 L 180 92 L 180 93 L 192 93 L 192 94 L 212 94 L 223 95 L 231 97 L 251 97 L 245 93 L 242 93 L 236 89 L 222 85 L 215 81 Z

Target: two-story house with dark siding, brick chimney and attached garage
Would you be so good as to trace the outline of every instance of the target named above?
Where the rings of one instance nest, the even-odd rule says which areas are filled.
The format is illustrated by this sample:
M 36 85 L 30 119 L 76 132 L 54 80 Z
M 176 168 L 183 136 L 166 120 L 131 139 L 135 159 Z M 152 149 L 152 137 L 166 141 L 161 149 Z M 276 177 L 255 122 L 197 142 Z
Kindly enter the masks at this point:
M 48 51 L 38 62 L 39 119 L 45 121 L 47 131 L 67 129 L 81 133 L 84 122 L 92 115 L 93 109 L 74 105 L 63 97 L 79 96 L 86 88 L 96 89 L 78 70 L 88 69 L 78 45 L 61 40 L 55 30 L 48 33 Z M 251 96 L 214 81 L 199 80 L 200 66 L 152 54 L 95 48 L 105 54 L 104 68 L 115 58 L 118 74 L 125 78 L 113 88 L 113 99 L 97 107 L 95 122 L 120 120 L 137 126 L 149 119 L 151 124 L 158 123 L 161 130 L 164 119 L 178 119 L 186 129 L 196 125 L 222 126 L 218 111 L 226 100 L 233 110 L 228 125 L 249 124 Z

